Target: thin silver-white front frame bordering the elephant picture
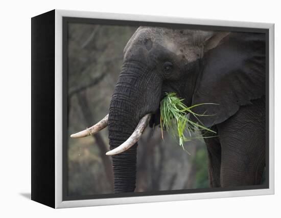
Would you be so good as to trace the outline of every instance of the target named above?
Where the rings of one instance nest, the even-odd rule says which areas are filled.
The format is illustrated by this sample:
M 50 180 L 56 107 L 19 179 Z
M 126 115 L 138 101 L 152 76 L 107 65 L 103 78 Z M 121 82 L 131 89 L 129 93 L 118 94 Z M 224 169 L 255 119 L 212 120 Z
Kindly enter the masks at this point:
M 224 21 L 212 19 L 193 19 L 180 17 L 162 17 L 162 16 L 144 16 L 133 14 L 115 14 L 100 12 L 83 12 L 83 11 L 67 11 L 55 10 L 55 208 L 67 207 L 84 207 L 84 206 L 100 206 L 115 204 L 132 204 L 132 203 L 148 203 L 163 201 L 182 201 L 194 199 L 209 198 L 225 198 L 225 197 L 241 197 L 251 195 L 274 194 L 274 24 L 266 23 L 249 23 L 241 21 Z M 62 166 L 62 135 L 63 135 L 63 18 L 95 18 L 95 19 L 112 19 L 112 20 L 131 20 L 145 21 L 156 23 L 170 24 L 189 24 L 204 25 L 229 28 L 258 28 L 268 30 L 269 43 L 269 188 L 250 189 L 250 190 L 231 190 L 231 191 L 210 191 L 200 193 L 180 193 L 180 194 L 161 194 L 146 195 L 136 197 L 120 197 L 120 198 L 101 198 L 87 200 L 63 200 L 63 166 Z

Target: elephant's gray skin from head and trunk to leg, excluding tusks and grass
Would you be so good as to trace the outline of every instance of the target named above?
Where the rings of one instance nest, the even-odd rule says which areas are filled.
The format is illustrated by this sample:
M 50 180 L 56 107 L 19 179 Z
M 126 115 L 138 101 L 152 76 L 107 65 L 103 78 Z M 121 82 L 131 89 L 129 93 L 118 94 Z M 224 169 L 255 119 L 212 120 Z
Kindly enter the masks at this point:
M 261 183 L 265 167 L 265 35 L 140 27 L 124 49 L 124 63 L 109 108 L 110 149 L 133 133 L 175 92 L 206 113 L 200 121 L 217 137 L 205 140 L 210 187 Z M 191 119 L 194 119 L 192 117 Z M 214 135 L 213 135 L 214 136 Z M 132 192 L 137 143 L 112 156 L 114 192 Z M 148 154 L 149 155 L 149 154 Z

